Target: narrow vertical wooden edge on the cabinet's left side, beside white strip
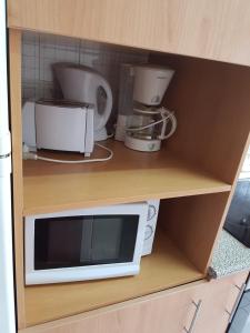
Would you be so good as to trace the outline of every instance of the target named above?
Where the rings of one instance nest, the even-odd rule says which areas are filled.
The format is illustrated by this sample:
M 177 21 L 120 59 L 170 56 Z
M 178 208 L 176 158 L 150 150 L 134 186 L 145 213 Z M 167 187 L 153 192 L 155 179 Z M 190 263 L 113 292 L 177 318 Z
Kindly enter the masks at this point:
M 21 32 L 9 32 L 9 78 L 13 167 L 13 220 L 16 286 L 18 302 L 18 326 L 26 326 L 23 282 L 23 228 L 22 228 L 22 125 L 21 125 Z

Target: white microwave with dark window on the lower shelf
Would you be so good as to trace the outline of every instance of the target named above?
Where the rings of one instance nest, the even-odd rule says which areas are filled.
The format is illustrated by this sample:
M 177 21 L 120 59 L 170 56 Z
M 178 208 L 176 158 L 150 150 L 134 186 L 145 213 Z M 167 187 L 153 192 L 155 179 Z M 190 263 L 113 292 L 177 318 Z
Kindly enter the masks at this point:
M 136 275 L 152 251 L 159 200 L 24 219 L 26 284 Z

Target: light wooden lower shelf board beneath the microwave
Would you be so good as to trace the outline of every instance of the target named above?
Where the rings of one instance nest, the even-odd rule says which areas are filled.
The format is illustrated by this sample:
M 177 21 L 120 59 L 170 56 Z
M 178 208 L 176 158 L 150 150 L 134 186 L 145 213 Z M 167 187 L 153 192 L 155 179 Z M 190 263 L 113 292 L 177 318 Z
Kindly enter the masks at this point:
M 142 258 L 137 276 L 26 287 L 27 325 L 134 299 L 202 279 L 200 273 L 158 232 L 151 255 Z

